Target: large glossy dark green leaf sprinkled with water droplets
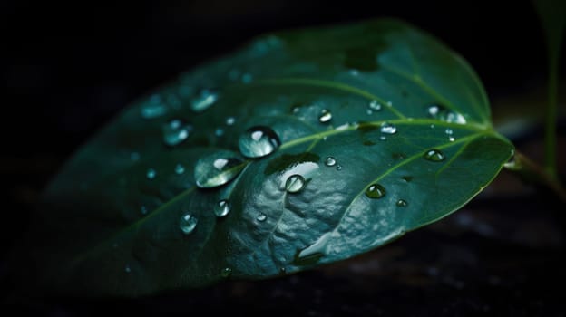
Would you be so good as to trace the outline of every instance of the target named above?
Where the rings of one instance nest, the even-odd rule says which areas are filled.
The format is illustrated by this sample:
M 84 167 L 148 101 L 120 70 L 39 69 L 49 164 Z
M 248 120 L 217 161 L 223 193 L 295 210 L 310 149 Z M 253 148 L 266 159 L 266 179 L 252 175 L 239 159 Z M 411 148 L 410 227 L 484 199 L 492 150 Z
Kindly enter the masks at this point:
M 512 149 L 471 67 L 408 24 L 263 36 L 135 102 L 79 149 L 26 251 L 50 293 L 291 274 L 449 215 Z

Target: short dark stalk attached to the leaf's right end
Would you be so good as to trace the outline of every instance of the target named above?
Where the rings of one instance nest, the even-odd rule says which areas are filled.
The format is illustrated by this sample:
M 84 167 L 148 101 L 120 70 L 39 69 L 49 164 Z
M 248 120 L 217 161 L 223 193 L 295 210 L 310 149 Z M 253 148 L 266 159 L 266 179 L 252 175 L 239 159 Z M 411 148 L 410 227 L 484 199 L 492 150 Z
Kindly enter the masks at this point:
M 532 161 L 532 159 L 524 156 L 521 152 L 515 151 L 513 159 L 505 163 L 504 168 L 507 168 L 534 184 L 550 188 L 562 202 L 566 203 L 566 189 L 562 187 L 560 180 L 552 176 L 547 169 L 542 168 L 539 164 Z

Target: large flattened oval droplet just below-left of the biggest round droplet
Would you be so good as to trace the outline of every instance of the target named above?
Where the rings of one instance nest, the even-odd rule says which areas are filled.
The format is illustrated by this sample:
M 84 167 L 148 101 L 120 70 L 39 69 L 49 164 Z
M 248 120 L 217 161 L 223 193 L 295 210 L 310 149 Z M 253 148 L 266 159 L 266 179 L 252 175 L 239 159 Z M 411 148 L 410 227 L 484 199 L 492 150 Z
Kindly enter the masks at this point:
M 246 163 L 238 154 L 222 150 L 199 159 L 194 169 L 194 178 L 200 188 L 218 187 L 238 176 Z

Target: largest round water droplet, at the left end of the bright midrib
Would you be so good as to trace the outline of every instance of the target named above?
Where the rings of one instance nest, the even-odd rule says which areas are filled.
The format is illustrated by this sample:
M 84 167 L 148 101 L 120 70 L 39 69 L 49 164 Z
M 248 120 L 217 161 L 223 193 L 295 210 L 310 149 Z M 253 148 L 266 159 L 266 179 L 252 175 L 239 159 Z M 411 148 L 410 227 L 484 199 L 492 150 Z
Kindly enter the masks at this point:
M 252 127 L 239 137 L 239 150 L 248 158 L 265 157 L 280 144 L 278 135 L 265 126 Z

